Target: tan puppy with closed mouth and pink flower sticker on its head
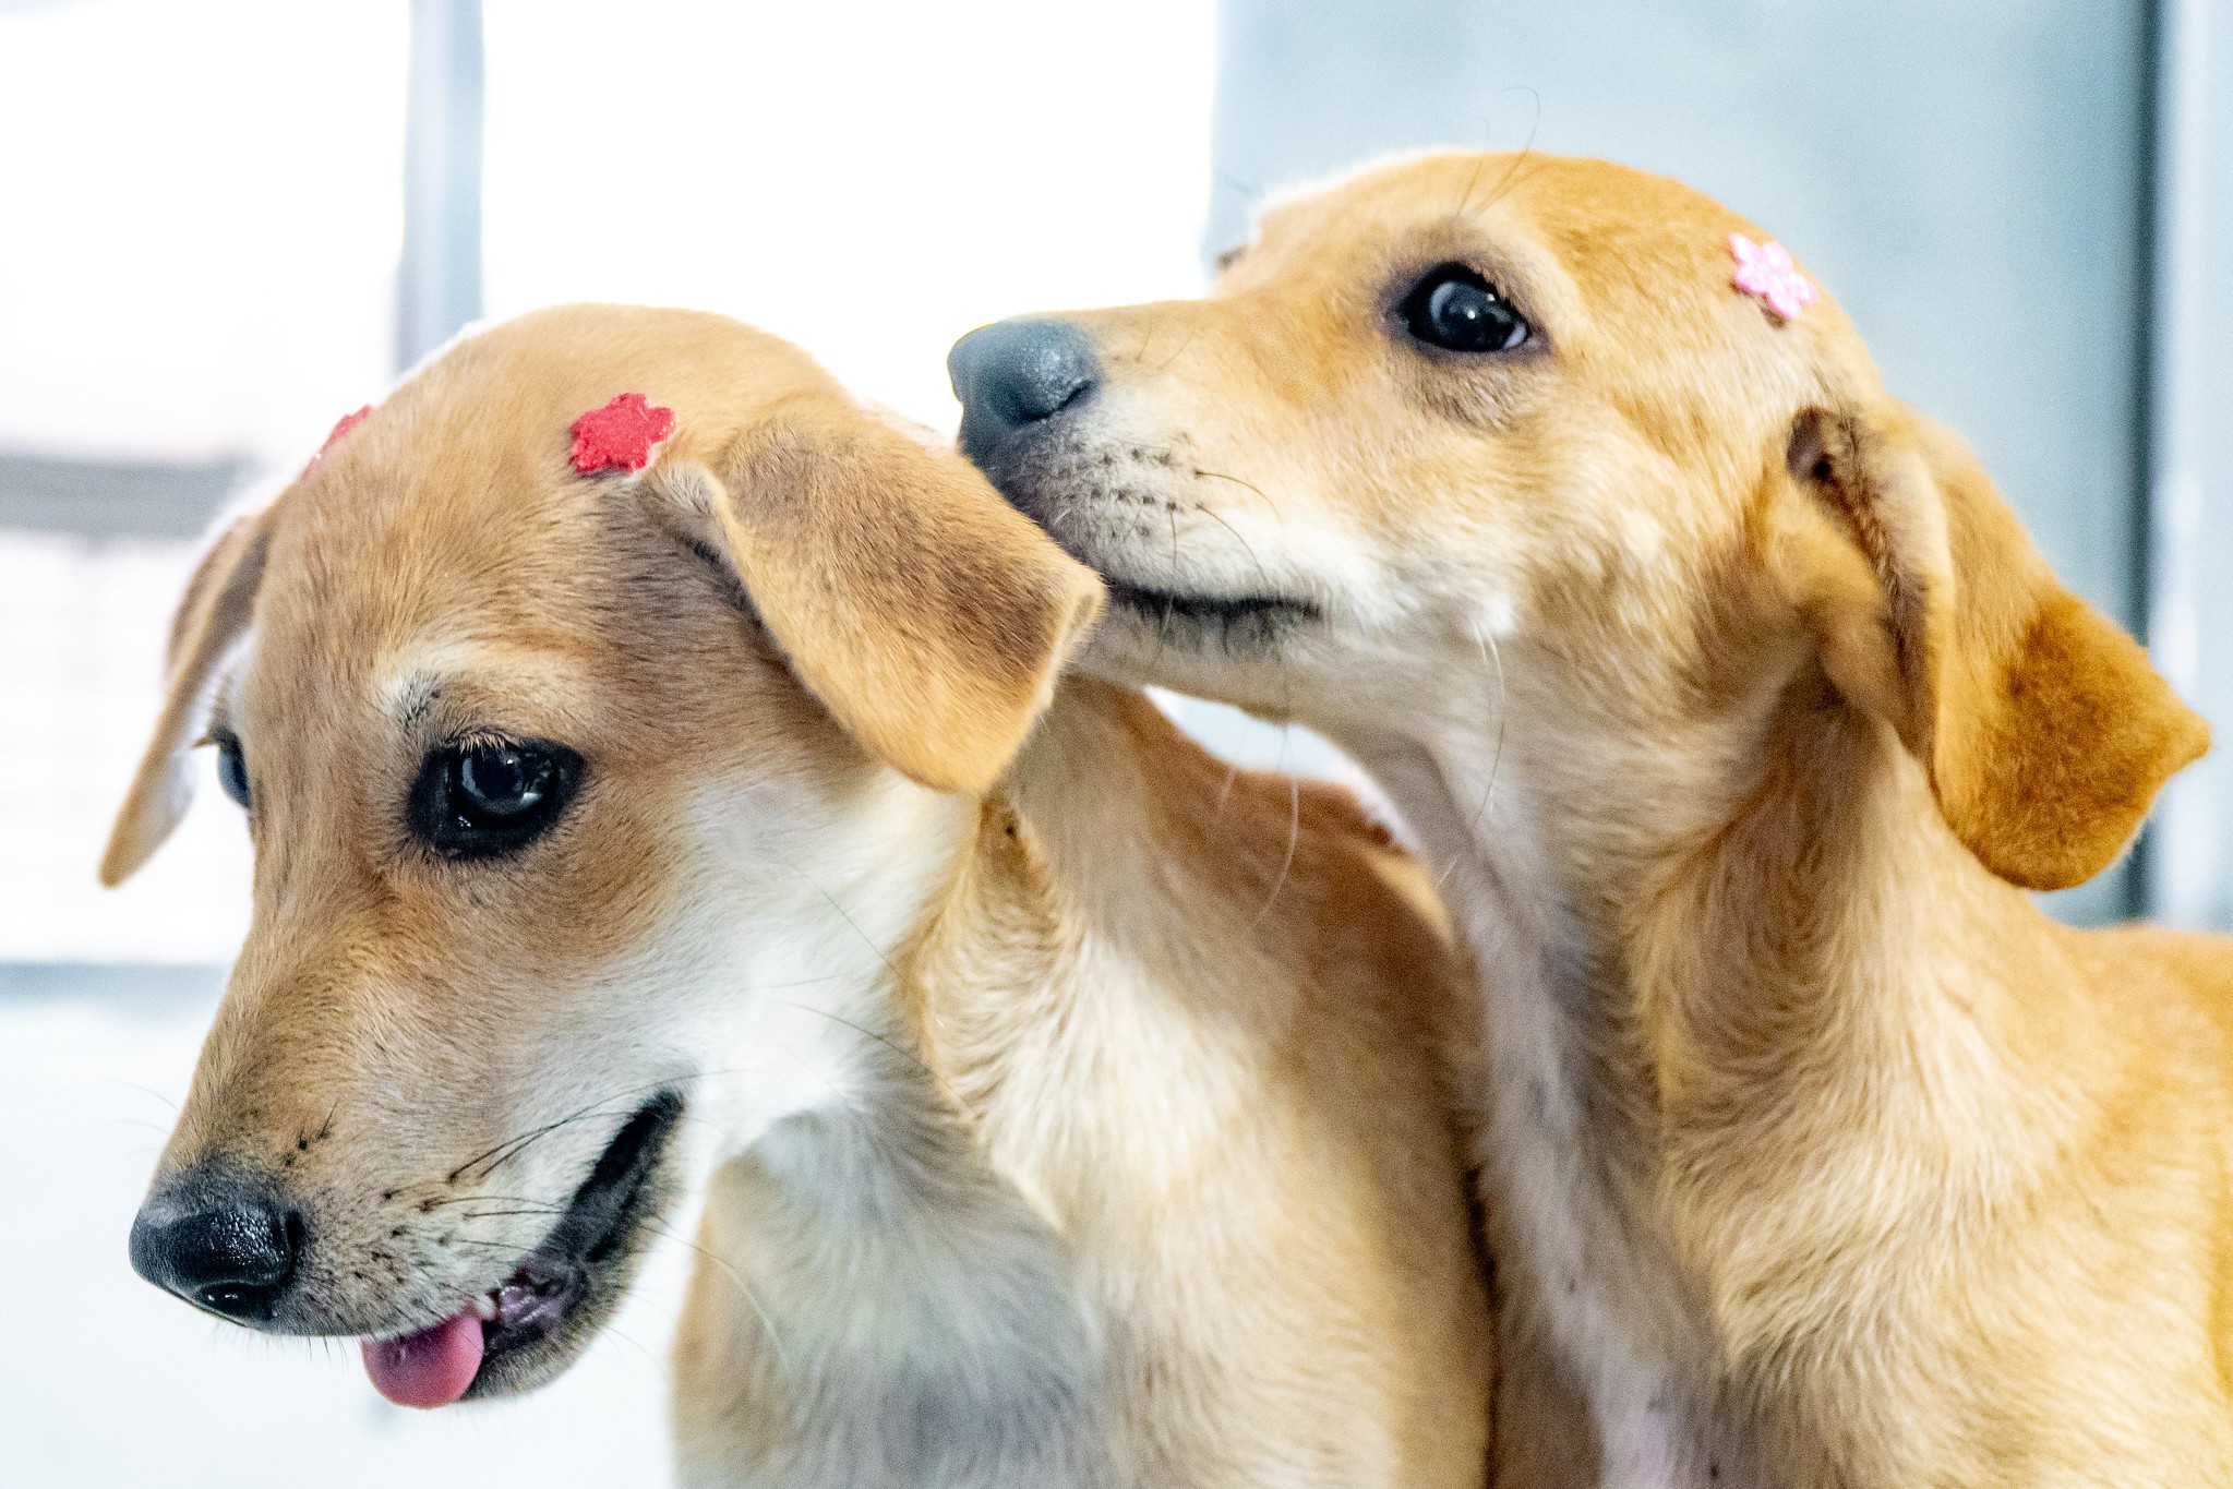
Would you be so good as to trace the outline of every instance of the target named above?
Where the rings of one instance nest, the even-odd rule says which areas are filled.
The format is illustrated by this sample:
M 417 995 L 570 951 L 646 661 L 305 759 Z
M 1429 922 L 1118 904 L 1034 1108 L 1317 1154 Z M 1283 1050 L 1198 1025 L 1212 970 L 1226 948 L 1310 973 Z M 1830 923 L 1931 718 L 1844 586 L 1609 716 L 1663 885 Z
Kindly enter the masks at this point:
M 1521 1482 L 2233 1482 L 2233 947 L 2023 893 L 2204 728 L 1733 232 L 1400 163 L 965 339 L 962 442 L 1099 667 L 1326 730 L 1443 864 Z

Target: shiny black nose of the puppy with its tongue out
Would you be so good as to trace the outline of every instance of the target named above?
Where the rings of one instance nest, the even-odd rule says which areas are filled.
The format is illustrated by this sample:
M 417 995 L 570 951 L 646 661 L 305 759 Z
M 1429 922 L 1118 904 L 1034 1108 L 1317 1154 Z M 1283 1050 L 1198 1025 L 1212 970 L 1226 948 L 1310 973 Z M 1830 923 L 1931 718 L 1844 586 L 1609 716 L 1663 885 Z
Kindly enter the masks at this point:
M 132 1221 L 132 1270 L 230 1319 L 266 1319 L 295 1275 L 301 1217 L 232 1168 L 165 1179 Z

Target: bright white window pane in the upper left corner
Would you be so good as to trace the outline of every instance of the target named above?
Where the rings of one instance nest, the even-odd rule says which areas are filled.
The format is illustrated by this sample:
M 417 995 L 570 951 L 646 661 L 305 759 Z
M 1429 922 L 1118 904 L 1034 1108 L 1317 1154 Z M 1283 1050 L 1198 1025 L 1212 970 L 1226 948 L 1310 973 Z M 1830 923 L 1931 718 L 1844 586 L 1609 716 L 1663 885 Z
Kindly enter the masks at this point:
M 0 446 L 284 469 L 389 382 L 404 7 L 0 20 Z

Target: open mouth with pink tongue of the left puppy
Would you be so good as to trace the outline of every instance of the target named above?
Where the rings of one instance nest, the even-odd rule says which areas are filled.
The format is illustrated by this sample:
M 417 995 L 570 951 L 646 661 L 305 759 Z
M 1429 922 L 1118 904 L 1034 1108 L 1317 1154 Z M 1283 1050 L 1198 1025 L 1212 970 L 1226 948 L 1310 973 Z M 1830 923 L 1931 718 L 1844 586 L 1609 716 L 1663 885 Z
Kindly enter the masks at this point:
M 558 1223 L 498 1286 L 433 1328 L 366 1339 L 364 1371 L 397 1406 L 449 1406 L 554 1375 L 614 1308 L 683 1101 L 661 1092 L 598 1156 Z

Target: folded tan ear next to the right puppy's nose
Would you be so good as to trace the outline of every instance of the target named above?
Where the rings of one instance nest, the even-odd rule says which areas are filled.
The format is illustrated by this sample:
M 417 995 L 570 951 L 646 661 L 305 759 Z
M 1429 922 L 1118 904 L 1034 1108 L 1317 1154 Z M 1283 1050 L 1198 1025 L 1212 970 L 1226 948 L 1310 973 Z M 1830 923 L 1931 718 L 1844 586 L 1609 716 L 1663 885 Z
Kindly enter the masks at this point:
M 1007 770 L 1101 580 L 958 455 L 857 415 L 797 415 L 708 471 L 648 482 L 719 545 L 793 672 L 871 755 L 931 790 Z

